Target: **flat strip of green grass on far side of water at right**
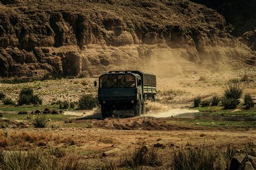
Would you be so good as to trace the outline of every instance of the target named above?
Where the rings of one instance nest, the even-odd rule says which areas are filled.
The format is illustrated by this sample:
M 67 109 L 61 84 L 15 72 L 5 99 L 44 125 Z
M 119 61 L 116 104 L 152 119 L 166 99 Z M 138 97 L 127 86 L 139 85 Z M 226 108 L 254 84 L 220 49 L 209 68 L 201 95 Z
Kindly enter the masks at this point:
M 240 110 L 232 112 L 234 109 L 226 109 L 224 107 L 198 107 L 193 108 L 197 109 L 200 112 L 200 115 L 211 115 L 211 116 L 256 116 L 256 108 L 252 108 L 250 110 Z

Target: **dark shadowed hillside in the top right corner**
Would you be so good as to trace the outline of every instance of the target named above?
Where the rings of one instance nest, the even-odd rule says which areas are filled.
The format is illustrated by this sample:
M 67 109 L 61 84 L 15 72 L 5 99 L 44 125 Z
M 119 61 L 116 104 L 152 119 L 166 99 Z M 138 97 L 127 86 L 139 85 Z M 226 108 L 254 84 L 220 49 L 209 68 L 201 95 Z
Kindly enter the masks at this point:
M 256 1 L 254 0 L 191 0 L 217 10 L 226 19 L 226 30 L 239 37 L 247 46 L 256 51 Z

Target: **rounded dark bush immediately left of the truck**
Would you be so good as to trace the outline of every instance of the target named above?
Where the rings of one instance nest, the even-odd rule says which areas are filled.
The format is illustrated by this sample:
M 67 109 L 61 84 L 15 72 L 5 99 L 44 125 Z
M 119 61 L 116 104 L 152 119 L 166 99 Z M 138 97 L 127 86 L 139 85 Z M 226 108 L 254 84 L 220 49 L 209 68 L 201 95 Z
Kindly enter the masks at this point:
M 93 109 L 98 105 L 97 97 L 93 94 L 85 94 L 79 98 L 80 109 Z

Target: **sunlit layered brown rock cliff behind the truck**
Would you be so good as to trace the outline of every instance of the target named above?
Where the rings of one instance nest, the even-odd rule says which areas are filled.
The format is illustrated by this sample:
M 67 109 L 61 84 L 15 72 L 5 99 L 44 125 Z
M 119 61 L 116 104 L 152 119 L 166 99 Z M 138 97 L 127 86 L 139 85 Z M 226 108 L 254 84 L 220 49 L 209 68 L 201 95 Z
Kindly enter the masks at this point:
M 17 2 L 0 4 L 0 23 L 2 77 L 255 65 L 225 19 L 192 2 Z

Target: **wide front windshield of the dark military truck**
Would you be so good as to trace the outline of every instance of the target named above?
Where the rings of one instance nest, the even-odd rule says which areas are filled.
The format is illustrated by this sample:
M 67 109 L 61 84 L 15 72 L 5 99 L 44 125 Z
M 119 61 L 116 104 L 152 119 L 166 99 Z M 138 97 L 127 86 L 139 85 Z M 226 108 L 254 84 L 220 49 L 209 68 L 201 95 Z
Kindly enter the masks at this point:
M 100 87 L 135 87 L 135 79 L 132 75 L 103 75 L 100 78 Z

